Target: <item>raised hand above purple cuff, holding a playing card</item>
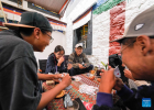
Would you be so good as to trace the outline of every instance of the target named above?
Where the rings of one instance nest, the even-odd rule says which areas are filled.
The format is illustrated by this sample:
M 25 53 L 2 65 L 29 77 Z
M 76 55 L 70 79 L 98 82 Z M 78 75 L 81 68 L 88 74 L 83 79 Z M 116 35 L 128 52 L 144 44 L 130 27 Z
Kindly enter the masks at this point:
M 112 88 L 116 85 L 116 76 L 113 75 L 114 69 L 103 70 L 101 73 L 101 79 L 99 85 L 99 92 L 111 94 Z

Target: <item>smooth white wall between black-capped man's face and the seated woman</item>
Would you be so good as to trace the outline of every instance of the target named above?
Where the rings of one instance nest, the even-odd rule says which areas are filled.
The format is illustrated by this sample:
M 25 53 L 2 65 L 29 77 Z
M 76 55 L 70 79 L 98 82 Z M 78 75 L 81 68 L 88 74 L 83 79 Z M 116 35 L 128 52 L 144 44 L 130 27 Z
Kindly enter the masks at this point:
M 54 31 L 52 33 L 54 41 L 44 50 L 44 52 L 34 52 L 36 61 L 38 59 L 47 59 L 48 55 L 54 52 L 56 45 L 62 45 L 64 50 L 66 50 L 66 35 L 65 33 L 61 33 L 58 31 Z

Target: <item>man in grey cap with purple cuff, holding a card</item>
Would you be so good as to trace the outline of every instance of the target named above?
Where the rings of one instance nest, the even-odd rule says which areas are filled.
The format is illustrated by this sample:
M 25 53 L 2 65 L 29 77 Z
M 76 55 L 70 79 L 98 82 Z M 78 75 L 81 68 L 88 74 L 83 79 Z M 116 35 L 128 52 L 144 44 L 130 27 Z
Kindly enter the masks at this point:
M 139 14 L 123 37 L 111 41 L 121 44 L 122 63 L 136 80 L 154 81 L 154 7 Z M 154 86 L 131 90 L 116 78 L 114 69 L 102 73 L 95 110 L 121 110 L 113 107 L 111 90 L 114 88 L 131 110 L 154 110 Z

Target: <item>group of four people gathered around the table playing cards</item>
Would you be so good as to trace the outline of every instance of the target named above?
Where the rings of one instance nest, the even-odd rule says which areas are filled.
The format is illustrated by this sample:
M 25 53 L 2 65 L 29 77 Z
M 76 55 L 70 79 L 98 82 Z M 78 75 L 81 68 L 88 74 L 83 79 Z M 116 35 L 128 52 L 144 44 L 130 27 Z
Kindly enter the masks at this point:
M 114 69 L 111 67 L 109 70 L 101 72 L 94 110 L 154 109 L 153 14 L 154 7 L 140 13 L 131 22 L 123 37 L 111 41 L 119 42 L 121 45 L 122 79 L 114 76 Z M 70 85 L 70 76 L 88 73 L 94 68 L 86 54 L 82 53 L 81 44 L 76 44 L 75 52 L 68 57 L 66 68 L 64 65 L 65 50 L 57 45 L 48 56 L 45 73 L 40 74 L 34 51 L 43 52 L 53 41 L 53 29 L 48 20 L 37 12 L 24 12 L 21 14 L 19 24 L 6 23 L 4 25 L 10 30 L 0 32 L 0 110 L 41 110 Z M 125 66 L 129 69 L 125 69 Z M 69 74 L 63 77 L 56 74 L 67 70 Z M 150 85 L 130 89 L 127 77 L 133 81 L 146 80 L 145 82 Z M 37 80 L 59 78 L 62 81 L 53 89 L 42 94 L 38 91 Z M 112 89 L 117 90 L 121 105 L 113 105 Z M 143 98 L 151 99 L 150 107 L 142 106 Z

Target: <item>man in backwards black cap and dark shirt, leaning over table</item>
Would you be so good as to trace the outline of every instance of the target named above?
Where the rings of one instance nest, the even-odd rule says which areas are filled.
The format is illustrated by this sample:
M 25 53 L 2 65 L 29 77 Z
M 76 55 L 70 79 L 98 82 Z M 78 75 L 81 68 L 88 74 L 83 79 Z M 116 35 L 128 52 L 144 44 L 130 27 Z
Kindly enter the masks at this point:
M 67 75 L 52 90 L 37 90 L 41 76 L 33 52 L 44 51 L 53 29 L 36 12 L 22 13 L 20 24 L 4 25 L 12 30 L 0 32 L 0 110 L 41 110 L 72 82 Z

